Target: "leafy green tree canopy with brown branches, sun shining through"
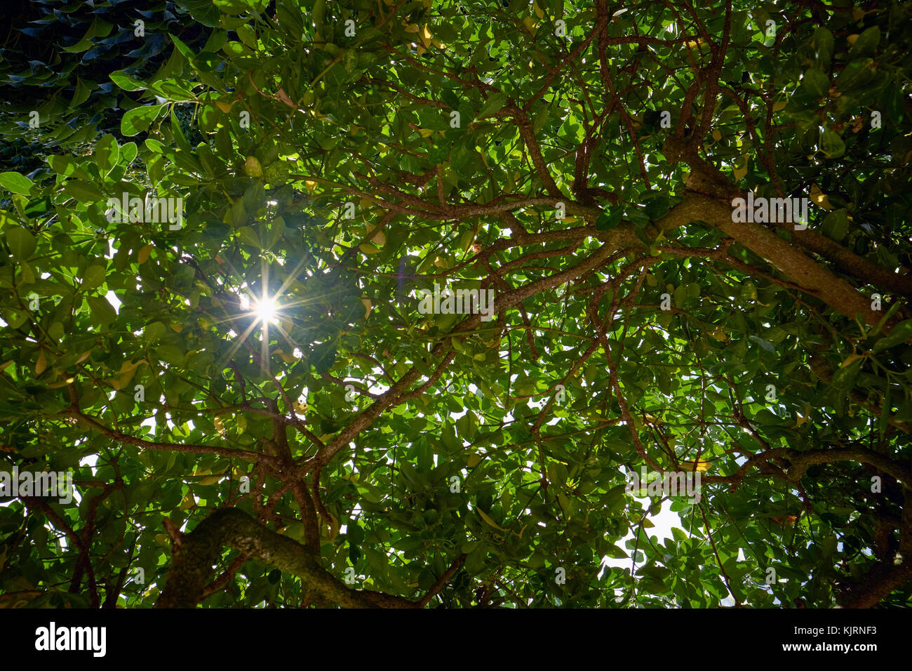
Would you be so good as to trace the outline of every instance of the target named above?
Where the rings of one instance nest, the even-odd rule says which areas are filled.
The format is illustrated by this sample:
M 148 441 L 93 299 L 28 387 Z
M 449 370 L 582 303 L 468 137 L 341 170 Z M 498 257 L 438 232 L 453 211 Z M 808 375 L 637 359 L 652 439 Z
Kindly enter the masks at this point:
M 74 80 L 115 6 L 0 173 L 5 469 L 78 492 L 5 603 L 909 603 L 908 5 L 181 0 Z

